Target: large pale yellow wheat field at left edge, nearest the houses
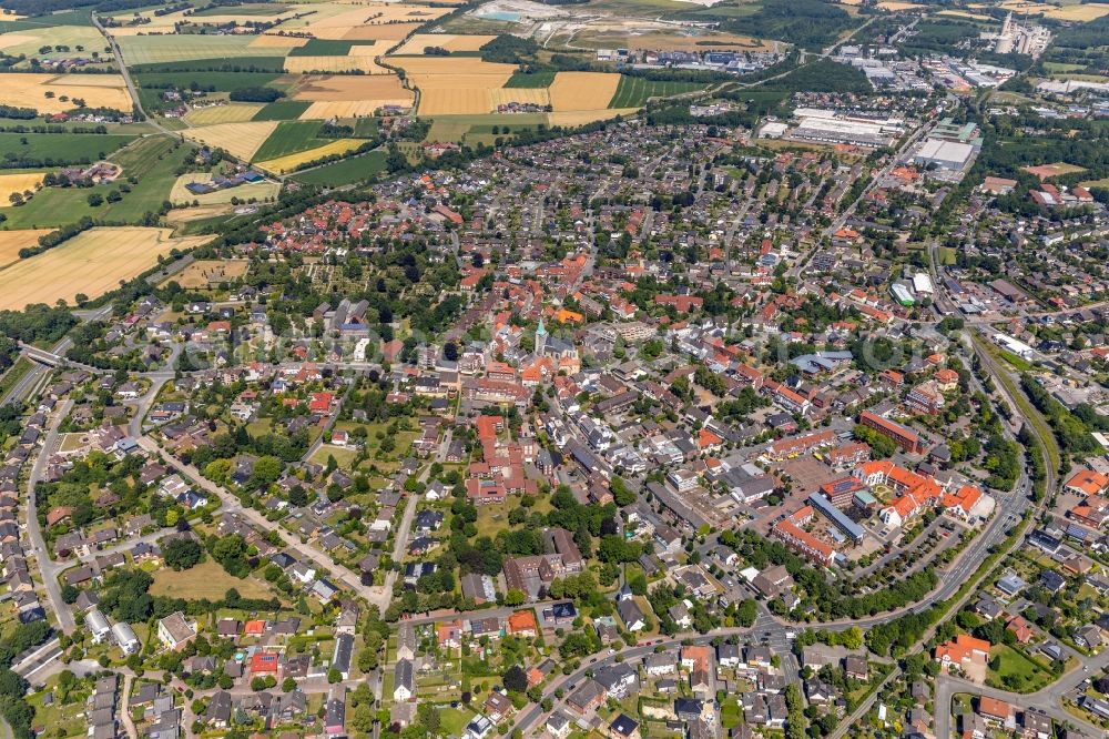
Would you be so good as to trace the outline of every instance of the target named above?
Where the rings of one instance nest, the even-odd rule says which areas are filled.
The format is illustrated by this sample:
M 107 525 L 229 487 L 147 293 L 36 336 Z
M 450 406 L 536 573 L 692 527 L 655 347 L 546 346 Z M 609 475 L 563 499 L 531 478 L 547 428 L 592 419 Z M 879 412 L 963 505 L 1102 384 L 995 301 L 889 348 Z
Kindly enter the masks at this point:
M 0 270 L 0 310 L 30 303 L 77 303 L 78 293 L 99 297 L 157 263 L 171 250 L 192 249 L 212 236 L 172 239 L 170 229 L 90 229 L 41 254 Z

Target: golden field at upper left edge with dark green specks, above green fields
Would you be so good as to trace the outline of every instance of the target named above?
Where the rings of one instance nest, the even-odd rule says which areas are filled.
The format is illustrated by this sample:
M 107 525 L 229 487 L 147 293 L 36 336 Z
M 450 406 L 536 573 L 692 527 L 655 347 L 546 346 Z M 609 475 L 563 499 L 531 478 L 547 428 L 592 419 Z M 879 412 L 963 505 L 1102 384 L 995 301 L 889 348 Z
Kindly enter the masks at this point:
M 88 79 L 87 79 L 88 78 Z M 51 93 L 51 97 L 47 97 Z M 65 100 L 62 100 L 62 98 Z M 90 108 L 131 110 L 131 97 L 119 74 L 0 74 L 0 104 L 61 113 L 79 98 Z

